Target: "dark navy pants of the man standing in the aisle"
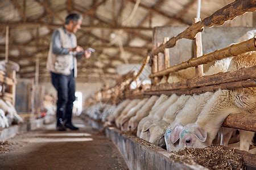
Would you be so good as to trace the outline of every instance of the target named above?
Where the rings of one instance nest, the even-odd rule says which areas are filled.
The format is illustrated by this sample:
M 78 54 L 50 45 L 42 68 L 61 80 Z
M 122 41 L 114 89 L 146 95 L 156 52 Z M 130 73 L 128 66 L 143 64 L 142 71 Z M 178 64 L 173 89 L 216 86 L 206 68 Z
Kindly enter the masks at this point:
M 75 101 L 74 70 L 71 75 L 51 73 L 52 84 L 57 90 L 57 126 L 62 122 L 71 123 L 73 101 Z

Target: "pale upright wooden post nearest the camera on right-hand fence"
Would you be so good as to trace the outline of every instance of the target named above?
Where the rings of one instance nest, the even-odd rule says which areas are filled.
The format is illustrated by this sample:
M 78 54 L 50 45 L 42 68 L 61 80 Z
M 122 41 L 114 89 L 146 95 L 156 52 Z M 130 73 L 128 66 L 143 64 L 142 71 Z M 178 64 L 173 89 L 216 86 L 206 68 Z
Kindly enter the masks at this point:
M 200 22 L 200 18 L 195 18 L 195 23 Z M 194 57 L 203 56 L 203 44 L 202 44 L 202 33 L 199 32 L 195 36 L 195 40 L 193 40 L 193 48 L 194 48 Z M 196 66 L 196 77 L 200 78 L 204 74 L 203 65 Z

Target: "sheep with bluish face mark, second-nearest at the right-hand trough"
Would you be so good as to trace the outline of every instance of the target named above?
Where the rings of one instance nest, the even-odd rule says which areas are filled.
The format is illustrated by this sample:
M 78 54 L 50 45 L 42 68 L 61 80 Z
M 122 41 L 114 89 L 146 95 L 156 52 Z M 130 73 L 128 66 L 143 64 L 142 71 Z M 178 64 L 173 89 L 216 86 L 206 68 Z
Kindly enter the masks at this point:
M 183 109 L 177 113 L 174 122 L 168 126 L 164 134 L 164 141 L 166 142 L 168 151 L 174 151 L 179 148 L 177 141 L 179 140 L 180 130 L 184 125 L 196 121 L 197 116 L 211 96 L 212 92 L 206 92 L 205 94 L 193 95 L 187 100 Z

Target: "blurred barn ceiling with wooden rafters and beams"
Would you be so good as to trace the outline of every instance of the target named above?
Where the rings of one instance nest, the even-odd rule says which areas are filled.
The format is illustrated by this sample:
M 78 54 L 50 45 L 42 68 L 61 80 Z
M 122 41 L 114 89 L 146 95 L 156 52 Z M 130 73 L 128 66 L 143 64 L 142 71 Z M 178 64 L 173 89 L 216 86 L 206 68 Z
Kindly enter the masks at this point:
M 19 63 L 19 75 L 34 78 L 36 58 L 39 80 L 49 80 L 46 59 L 51 34 L 69 12 L 83 16 L 78 44 L 96 53 L 80 61 L 78 81 L 98 82 L 118 77 L 116 67 L 140 63 L 152 48 L 154 27 L 190 25 L 196 0 L 2 0 L 0 1 L 0 58 L 5 57 L 5 30 L 9 25 L 9 59 Z M 232 2 L 204 0 L 201 18 Z M 137 7 L 138 6 L 138 7 Z

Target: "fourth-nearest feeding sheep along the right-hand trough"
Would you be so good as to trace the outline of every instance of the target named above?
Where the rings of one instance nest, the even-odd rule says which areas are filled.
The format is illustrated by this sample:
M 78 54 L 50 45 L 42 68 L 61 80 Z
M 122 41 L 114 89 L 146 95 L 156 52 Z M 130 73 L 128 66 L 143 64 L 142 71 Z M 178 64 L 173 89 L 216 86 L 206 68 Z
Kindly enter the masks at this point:
M 166 101 L 164 101 L 161 105 L 159 105 L 158 108 L 156 108 L 154 115 L 151 118 L 148 118 L 148 120 L 143 124 L 140 138 L 146 141 L 149 140 L 150 131 L 148 131 L 148 129 L 150 128 L 150 125 L 153 124 L 154 122 L 162 120 L 163 114 L 166 112 L 166 110 L 170 105 L 175 103 L 177 98 L 178 96 L 176 94 L 172 94 Z

